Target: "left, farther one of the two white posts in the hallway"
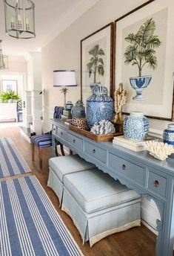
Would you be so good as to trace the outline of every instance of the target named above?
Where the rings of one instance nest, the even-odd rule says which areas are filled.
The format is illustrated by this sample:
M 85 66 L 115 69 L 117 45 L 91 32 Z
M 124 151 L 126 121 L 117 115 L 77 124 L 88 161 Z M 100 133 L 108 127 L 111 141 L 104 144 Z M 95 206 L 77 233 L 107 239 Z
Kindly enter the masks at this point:
M 30 128 L 32 123 L 32 113 L 31 113 L 31 91 L 25 91 L 25 120 L 24 127 Z

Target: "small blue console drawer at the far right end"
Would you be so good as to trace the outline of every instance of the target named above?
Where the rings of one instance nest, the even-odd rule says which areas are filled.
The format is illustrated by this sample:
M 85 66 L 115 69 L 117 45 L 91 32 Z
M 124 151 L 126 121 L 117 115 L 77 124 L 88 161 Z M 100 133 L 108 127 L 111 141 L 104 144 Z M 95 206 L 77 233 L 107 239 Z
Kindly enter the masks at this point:
M 167 179 L 163 176 L 150 171 L 147 186 L 151 191 L 166 197 Z

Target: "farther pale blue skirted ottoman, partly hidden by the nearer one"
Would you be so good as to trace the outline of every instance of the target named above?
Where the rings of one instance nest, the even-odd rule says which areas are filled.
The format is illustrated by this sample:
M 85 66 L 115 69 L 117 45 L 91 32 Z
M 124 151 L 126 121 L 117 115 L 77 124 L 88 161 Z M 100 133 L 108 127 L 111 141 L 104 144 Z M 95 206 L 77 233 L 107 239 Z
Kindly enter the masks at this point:
M 75 173 L 81 170 L 89 170 L 94 168 L 91 164 L 78 155 L 58 156 L 49 159 L 49 177 L 47 185 L 53 189 L 58 196 L 60 205 L 64 188 L 64 176 L 68 173 Z

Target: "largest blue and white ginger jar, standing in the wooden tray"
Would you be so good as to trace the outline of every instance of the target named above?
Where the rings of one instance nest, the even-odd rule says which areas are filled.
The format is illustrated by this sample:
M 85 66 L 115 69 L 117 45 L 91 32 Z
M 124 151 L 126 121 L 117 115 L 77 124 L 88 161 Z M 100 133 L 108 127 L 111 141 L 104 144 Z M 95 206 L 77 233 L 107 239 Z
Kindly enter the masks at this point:
M 87 124 L 91 128 L 93 124 L 101 120 L 111 121 L 113 118 L 113 99 L 107 95 L 107 87 L 96 83 L 90 85 L 93 95 L 87 99 L 86 115 Z

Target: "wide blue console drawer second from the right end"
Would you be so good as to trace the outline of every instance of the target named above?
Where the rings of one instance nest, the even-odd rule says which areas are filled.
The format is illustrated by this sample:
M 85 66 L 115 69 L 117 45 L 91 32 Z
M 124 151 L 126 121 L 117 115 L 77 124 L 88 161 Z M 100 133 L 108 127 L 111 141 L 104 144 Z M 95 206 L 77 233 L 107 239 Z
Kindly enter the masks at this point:
M 133 164 L 130 161 L 121 159 L 121 157 L 109 153 L 109 167 L 113 170 L 119 171 L 122 175 L 133 180 L 138 185 L 145 185 L 146 172 L 144 167 Z

